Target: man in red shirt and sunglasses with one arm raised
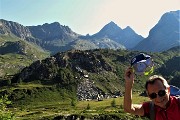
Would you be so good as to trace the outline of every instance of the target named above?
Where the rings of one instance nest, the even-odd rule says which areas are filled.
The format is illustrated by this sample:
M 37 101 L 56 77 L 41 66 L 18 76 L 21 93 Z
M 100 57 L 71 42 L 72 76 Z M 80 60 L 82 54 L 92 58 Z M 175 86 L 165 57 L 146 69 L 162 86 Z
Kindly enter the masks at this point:
M 163 77 L 154 75 L 146 82 L 146 92 L 154 104 L 153 110 L 151 110 L 151 102 L 144 102 L 142 104 L 132 103 L 134 78 L 135 75 L 132 68 L 128 68 L 125 71 L 125 112 L 150 118 L 150 113 L 154 110 L 155 120 L 180 120 L 180 100 L 170 96 L 170 86 Z

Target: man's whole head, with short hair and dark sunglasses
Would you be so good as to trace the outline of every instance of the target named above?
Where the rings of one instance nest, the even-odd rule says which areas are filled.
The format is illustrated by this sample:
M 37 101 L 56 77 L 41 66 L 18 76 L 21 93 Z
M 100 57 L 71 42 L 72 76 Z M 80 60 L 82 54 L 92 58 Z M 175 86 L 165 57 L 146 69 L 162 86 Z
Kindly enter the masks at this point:
M 153 75 L 147 80 L 145 87 L 149 98 L 156 105 L 166 108 L 170 96 L 170 86 L 167 81 L 162 76 Z

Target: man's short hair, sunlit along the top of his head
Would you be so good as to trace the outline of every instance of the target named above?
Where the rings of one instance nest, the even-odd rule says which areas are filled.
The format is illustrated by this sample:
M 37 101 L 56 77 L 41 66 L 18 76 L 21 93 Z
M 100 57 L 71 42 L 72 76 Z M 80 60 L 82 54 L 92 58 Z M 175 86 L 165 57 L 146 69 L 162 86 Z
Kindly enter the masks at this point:
M 149 79 L 146 81 L 146 84 L 145 84 L 146 91 L 147 91 L 148 84 L 154 84 L 156 80 L 161 81 L 165 88 L 170 87 L 169 84 L 167 83 L 167 80 L 164 79 L 162 76 L 153 75 L 149 77 Z

